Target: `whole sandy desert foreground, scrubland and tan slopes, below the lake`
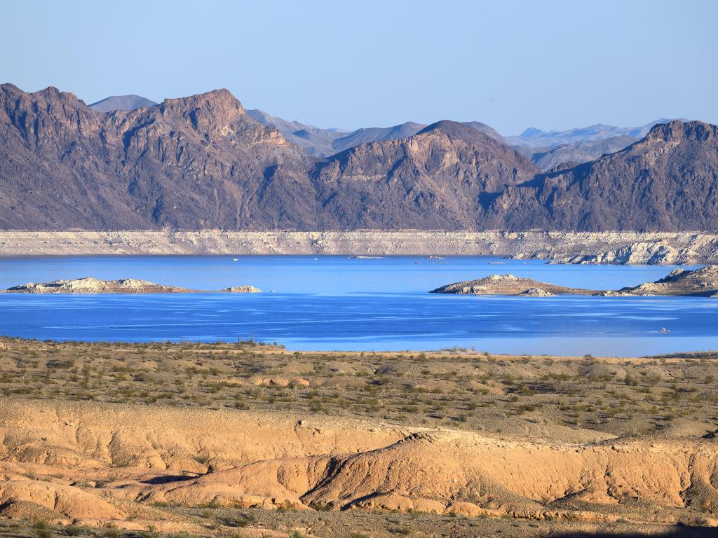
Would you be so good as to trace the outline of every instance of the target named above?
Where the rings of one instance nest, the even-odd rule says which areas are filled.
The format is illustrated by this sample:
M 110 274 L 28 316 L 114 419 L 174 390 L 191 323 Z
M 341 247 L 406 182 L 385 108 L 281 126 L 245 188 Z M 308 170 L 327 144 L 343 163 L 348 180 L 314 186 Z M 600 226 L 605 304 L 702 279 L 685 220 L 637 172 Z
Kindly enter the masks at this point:
M 718 535 L 718 354 L 0 339 L 0 535 Z

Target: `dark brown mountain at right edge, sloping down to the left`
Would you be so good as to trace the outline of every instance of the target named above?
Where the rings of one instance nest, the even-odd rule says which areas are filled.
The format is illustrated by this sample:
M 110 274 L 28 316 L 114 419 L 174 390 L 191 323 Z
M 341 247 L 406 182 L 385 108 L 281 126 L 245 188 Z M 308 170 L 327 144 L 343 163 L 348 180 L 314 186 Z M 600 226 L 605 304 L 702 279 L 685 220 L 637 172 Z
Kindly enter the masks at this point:
M 491 209 L 514 230 L 716 230 L 718 126 L 656 125 L 615 154 L 507 187 Z

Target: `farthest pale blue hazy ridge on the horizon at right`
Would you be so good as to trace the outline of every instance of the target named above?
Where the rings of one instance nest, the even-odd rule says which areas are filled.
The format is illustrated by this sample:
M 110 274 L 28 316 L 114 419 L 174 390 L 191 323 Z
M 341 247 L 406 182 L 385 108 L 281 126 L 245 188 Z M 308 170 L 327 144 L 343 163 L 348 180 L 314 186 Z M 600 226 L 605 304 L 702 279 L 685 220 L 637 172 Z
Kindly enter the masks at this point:
M 561 144 L 595 142 L 606 138 L 617 136 L 630 136 L 638 140 L 643 138 L 651 127 L 657 123 L 668 123 L 670 120 L 661 118 L 640 127 L 615 127 L 610 125 L 596 125 L 567 129 L 567 131 L 541 131 L 535 127 L 529 127 L 518 136 L 506 136 L 505 141 L 511 146 L 530 146 L 533 148 L 550 148 Z

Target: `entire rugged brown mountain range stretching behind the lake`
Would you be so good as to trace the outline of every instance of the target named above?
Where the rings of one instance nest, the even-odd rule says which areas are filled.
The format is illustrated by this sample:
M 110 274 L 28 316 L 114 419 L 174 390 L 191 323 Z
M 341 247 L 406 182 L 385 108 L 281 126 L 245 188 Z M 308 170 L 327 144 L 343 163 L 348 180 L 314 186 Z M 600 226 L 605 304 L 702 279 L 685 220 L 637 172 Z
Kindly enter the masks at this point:
M 699 121 L 657 123 L 619 151 L 541 171 L 481 123 L 322 130 L 246 111 L 227 90 L 127 103 L 101 112 L 56 88 L 1 85 L 0 228 L 717 228 L 718 127 Z M 612 138 L 640 134 L 595 131 L 611 136 L 551 136 L 611 151 Z M 297 138 L 340 149 L 312 155 Z

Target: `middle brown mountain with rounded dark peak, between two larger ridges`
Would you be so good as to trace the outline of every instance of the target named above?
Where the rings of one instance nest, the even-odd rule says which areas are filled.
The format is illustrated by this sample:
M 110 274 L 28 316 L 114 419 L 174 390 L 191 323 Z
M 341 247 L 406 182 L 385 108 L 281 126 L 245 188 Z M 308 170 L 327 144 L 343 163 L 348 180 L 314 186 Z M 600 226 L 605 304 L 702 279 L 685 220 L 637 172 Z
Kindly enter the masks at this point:
M 410 138 L 364 143 L 313 171 L 326 228 L 470 229 L 505 185 L 536 168 L 505 144 L 453 121 Z

